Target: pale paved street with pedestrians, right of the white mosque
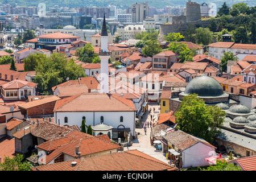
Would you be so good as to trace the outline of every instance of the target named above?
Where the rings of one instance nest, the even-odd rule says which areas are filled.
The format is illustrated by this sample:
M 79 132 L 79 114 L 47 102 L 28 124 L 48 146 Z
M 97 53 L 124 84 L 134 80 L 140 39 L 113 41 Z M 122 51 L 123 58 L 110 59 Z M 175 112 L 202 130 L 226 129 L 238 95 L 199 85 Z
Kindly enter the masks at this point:
M 160 113 L 160 106 L 157 104 L 148 104 L 148 110 L 150 110 L 150 108 L 152 109 L 151 113 L 154 113 L 155 118 L 158 118 L 158 114 Z M 155 108 L 155 112 L 153 112 L 153 108 Z M 145 114 L 144 118 L 142 119 L 142 126 L 145 121 L 150 122 L 150 120 L 150 114 Z M 147 155 L 161 160 L 164 163 L 168 163 L 168 160 L 166 159 L 166 156 L 163 155 L 162 151 L 156 150 L 156 148 L 150 144 L 150 126 L 149 128 L 147 127 L 146 135 L 144 134 L 144 129 L 142 126 L 136 129 L 136 132 L 140 134 L 138 135 L 137 139 L 133 140 L 133 146 L 129 147 L 129 150 L 137 149 Z M 127 147 L 125 147 L 124 150 L 127 150 Z

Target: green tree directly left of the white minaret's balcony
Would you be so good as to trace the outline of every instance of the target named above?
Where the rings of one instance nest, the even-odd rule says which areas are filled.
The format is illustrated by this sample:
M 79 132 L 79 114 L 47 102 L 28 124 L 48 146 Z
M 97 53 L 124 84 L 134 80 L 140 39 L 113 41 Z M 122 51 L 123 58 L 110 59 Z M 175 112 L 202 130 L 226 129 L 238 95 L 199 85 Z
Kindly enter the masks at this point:
M 100 57 L 94 53 L 91 44 L 86 44 L 84 47 L 76 49 L 76 56 L 85 63 L 100 63 L 101 61 Z

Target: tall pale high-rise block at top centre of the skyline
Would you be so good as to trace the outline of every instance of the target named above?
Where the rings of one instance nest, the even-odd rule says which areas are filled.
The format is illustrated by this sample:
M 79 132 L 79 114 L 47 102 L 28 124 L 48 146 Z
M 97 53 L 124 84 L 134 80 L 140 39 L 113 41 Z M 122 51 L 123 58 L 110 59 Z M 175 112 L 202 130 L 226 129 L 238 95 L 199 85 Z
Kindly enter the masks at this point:
M 148 16 L 148 4 L 144 3 L 135 3 L 131 5 L 131 22 L 143 22 Z

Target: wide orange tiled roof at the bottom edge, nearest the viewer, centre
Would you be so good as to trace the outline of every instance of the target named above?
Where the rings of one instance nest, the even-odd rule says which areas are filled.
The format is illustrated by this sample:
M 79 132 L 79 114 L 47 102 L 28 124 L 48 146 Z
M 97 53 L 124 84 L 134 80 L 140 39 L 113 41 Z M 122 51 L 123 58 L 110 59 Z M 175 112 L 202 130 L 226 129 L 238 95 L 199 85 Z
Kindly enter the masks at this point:
M 77 162 L 71 166 L 71 162 Z M 34 171 L 177 171 L 140 151 L 123 151 L 112 154 L 70 160 L 38 166 Z

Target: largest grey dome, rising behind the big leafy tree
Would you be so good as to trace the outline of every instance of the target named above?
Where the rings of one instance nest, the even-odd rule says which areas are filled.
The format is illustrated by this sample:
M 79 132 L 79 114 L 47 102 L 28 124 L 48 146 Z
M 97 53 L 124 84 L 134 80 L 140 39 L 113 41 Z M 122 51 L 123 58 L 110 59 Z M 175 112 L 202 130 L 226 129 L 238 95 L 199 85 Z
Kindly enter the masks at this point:
M 185 88 L 184 94 L 196 93 L 199 97 L 216 97 L 223 94 L 221 85 L 212 77 L 198 76 L 191 80 Z

